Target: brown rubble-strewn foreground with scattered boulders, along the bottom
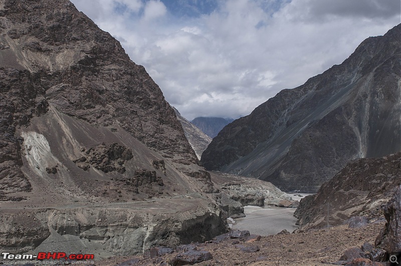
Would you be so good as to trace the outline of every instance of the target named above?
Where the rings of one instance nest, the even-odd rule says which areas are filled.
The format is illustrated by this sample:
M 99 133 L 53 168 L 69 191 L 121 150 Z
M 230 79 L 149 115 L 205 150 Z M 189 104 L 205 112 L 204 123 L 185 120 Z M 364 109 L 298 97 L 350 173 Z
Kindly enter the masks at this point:
M 96 265 L 388 265 L 401 251 L 401 185 L 397 185 L 382 217 L 349 220 L 326 229 L 270 236 L 232 230 L 203 243 L 175 248 L 154 247 L 143 256 L 113 257 Z M 386 263 L 387 261 L 387 263 Z M 392 262 L 394 262 L 392 260 Z

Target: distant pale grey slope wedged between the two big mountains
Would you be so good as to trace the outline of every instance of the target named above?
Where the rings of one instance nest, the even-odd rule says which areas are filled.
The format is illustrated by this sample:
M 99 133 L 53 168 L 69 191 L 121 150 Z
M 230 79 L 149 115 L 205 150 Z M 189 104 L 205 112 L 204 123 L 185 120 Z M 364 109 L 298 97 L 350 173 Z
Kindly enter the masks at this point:
M 197 128 L 191 122 L 186 120 L 177 109 L 173 107 L 178 121 L 181 123 L 182 129 L 184 130 L 185 137 L 194 150 L 197 158 L 200 160 L 200 156 L 208 145 L 212 142 L 212 138 L 206 135 L 202 130 Z

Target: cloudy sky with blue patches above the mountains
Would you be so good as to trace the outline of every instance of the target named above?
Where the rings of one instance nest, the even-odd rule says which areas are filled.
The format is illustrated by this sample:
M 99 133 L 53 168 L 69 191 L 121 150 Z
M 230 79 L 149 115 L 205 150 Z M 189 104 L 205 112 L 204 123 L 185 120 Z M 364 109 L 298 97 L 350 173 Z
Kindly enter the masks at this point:
M 399 0 L 71 0 L 191 120 L 238 118 L 400 23 Z

